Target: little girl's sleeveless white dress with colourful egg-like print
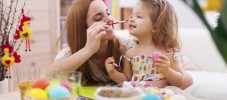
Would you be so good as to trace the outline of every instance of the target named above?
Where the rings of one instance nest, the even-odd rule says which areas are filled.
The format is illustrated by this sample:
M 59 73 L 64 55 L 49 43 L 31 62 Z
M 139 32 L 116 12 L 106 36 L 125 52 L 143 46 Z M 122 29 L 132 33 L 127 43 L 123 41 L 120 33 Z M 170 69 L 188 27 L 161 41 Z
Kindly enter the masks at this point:
M 132 81 L 156 81 L 164 75 L 154 66 L 151 56 L 134 56 L 130 59 L 132 65 Z

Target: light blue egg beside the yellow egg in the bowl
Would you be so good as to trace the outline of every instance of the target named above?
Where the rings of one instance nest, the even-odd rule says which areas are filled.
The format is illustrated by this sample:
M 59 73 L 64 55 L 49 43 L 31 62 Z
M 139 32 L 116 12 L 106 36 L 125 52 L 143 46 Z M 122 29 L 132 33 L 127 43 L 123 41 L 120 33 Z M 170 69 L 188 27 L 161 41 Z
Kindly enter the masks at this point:
M 70 92 L 68 91 L 68 89 L 61 85 L 56 85 L 49 90 L 49 97 L 53 99 L 66 98 L 69 96 Z

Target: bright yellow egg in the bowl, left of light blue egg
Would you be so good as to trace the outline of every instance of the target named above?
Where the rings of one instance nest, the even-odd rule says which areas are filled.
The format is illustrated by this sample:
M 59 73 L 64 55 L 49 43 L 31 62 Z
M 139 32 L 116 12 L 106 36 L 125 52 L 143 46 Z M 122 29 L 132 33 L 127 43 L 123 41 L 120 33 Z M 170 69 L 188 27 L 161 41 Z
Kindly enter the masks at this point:
M 29 91 L 28 96 L 37 99 L 46 99 L 48 98 L 47 93 L 40 88 L 33 88 Z

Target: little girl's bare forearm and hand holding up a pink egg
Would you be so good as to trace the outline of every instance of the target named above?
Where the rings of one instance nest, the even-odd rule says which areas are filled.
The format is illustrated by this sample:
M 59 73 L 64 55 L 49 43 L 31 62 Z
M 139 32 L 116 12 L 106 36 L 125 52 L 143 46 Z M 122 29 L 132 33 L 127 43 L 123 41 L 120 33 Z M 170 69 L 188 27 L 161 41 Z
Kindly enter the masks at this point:
M 157 59 L 159 62 L 157 66 L 171 85 L 185 89 L 193 83 L 192 77 L 173 58 L 173 55 L 170 55 L 169 58 L 162 55 L 161 59 Z M 163 67 L 165 65 L 167 67 Z

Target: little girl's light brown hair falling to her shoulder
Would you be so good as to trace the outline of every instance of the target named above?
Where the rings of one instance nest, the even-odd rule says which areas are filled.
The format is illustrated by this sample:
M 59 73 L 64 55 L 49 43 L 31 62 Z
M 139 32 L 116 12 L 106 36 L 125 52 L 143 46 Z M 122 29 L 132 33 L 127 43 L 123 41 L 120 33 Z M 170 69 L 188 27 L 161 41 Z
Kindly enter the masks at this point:
M 152 40 L 155 46 L 173 50 L 180 48 L 178 21 L 172 5 L 166 0 L 140 0 L 149 9 L 155 30 Z

